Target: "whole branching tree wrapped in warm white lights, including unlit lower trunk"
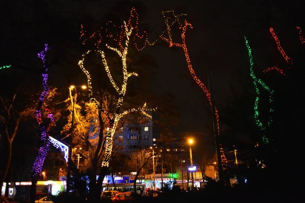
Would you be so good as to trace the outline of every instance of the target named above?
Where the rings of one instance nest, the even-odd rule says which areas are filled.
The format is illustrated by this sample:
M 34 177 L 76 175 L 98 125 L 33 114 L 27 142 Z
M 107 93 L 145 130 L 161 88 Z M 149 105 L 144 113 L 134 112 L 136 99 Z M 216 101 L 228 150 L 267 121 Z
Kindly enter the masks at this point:
M 133 25 L 132 24 L 132 19 L 136 18 L 136 23 Z M 101 154 L 102 156 L 102 170 L 99 176 L 98 180 L 98 185 L 101 186 L 102 181 L 105 177 L 107 168 L 109 166 L 109 160 L 113 151 L 113 136 L 115 134 L 116 128 L 120 122 L 121 119 L 124 119 L 126 115 L 129 113 L 133 112 L 141 112 L 143 115 L 147 117 L 151 117 L 149 115 L 148 111 L 155 111 L 155 109 L 147 108 L 146 103 L 144 103 L 141 107 L 138 108 L 131 108 L 129 110 L 124 110 L 123 104 L 124 104 L 124 99 L 127 91 L 127 85 L 128 81 L 132 76 L 138 76 L 137 73 L 134 72 L 129 72 L 128 71 L 128 63 L 127 63 L 127 55 L 128 55 L 128 50 L 131 45 L 131 40 L 132 40 L 132 32 L 135 31 L 134 36 L 137 36 L 137 14 L 135 12 L 135 9 L 131 10 L 131 16 L 128 22 L 124 21 L 124 24 L 119 26 L 120 32 L 117 35 L 117 38 L 113 39 L 118 43 L 118 48 L 111 47 L 110 45 L 106 44 L 105 48 L 114 51 L 114 53 L 119 56 L 120 60 L 120 71 L 123 73 L 121 77 L 117 77 L 110 69 L 110 66 L 108 65 L 108 58 L 106 57 L 106 50 L 100 50 L 101 45 L 100 43 L 103 41 L 103 39 L 100 39 L 95 43 L 96 49 L 94 50 L 88 50 L 82 55 L 82 60 L 79 61 L 79 66 L 80 69 L 85 73 L 87 77 L 87 85 L 88 85 L 88 91 L 89 91 L 89 97 L 90 100 L 92 100 L 97 109 L 98 109 L 98 121 L 100 124 L 100 135 L 99 135 L 99 142 L 97 146 L 97 150 L 95 152 L 95 159 L 97 161 L 98 155 Z M 82 30 L 81 32 L 81 37 L 84 35 L 84 31 Z M 92 36 L 98 35 L 98 32 L 95 32 Z M 111 33 L 108 33 L 109 36 L 114 36 Z M 85 42 L 86 40 L 84 40 Z M 83 42 L 83 44 L 84 44 Z M 98 100 L 97 94 L 94 95 L 93 92 L 93 82 L 92 82 L 92 75 L 90 72 L 85 68 L 85 58 L 89 53 L 96 52 L 102 57 L 102 63 L 104 66 L 104 69 L 106 71 L 106 78 L 111 83 L 112 88 L 114 89 L 114 96 L 115 96 L 115 101 L 112 105 L 112 109 L 107 109 L 103 106 L 103 103 Z M 111 55 L 111 54 L 109 54 Z M 109 57 L 110 58 L 110 57 Z M 109 63 L 110 64 L 110 63 Z M 114 77 L 115 76 L 115 77 Z M 105 92 L 105 90 L 100 90 L 101 92 Z M 111 90 L 108 90 L 107 92 L 110 92 Z M 101 96 L 100 98 L 103 98 Z M 107 123 L 104 123 L 102 116 L 105 116 L 107 118 Z M 107 124 L 107 132 L 104 138 L 103 130 L 104 130 L 104 125 Z M 105 142 L 103 143 L 103 139 L 105 139 Z M 104 148 L 105 147 L 105 148 Z M 101 150 L 102 149 L 102 153 Z M 92 177 L 91 182 L 95 182 L 95 178 Z M 97 189 L 97 192 L 100 193 L 101 190 Z

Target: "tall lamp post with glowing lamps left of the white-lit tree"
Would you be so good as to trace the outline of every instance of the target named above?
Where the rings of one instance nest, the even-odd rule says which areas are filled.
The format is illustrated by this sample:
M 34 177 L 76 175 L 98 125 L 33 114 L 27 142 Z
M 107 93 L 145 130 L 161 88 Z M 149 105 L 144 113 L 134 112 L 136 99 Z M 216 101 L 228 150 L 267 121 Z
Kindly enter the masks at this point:
M 68 157 L 68 169 L 67 169 L 67 193 L 70 192 L 70 182 L 71 182 L 71 158 L 72 158 L 72 137 L 73 137 L 73 131 L 74 131 L 74 112 L 75 112 L 75 104 L 76 104 L 76 87 L 71 85 L 69 87 L 70 95 L 72 95 L 72 121 L 71 121 L 71 134 L 70 134 L 70 147 L 69 147 L 69 157 Z M 86 89 L 87 87 L 85 85 L 81 86 L 82 89 Z M 73 91 L 74 90 L 74 91 Z M 72 94 L 73 93 L 73 94 Z

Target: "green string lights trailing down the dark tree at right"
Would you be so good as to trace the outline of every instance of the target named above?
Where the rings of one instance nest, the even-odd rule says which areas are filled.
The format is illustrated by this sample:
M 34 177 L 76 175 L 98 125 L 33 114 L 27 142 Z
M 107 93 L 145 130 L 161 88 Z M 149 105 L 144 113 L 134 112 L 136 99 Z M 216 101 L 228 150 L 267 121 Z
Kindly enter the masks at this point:
M 254 87 L 255 87 L 255 90 L 256 90 L 256 98 L 255 98 L 255 104 L 254 104 L 254 118 L 255 118 L 255 121 L 256 121 L 256 124 L 260 127 L 260 129 L 263 131 L 263 136 L 262 136 L 262 139 L 263 139 L 263 142 L 265 144 L 268 144 L 269 141 L 268 139 L 266 138 L 265 136 L 265 130 L 266 130 L 266 127 L 270 127 L 271 124 L 272 124 L 272 117 L 271 117 L 271 114 L 273 112 L 273 109 L 271 107 L 272 103 L 273 103 L 273 98 L 272 98 L 272 95 L 273 95 L 273 89 L 271 89 L 270 87 L 268 87 L 261 79 L 258 79 L 255 75 L 254 75 L 254 71 L 253 71 L 253 58 L 252 58 L 252 50 L 250 48 L 250 45 L 248 44 L 248 40 L 245 36 L 245 42 L 246 42 L 246 46 L 248 48 L 248 54 L 249 54 L 249 60 L 250 60 L 250 75 L 251 77 L 253 78 L 253 83 L 254 83 Z M 259 95 L 260 95 L 260 91 L 259 91 L 259 88 L 258 86 L 261 85 L 265 90 L 267 90 L 270 95 L 269 95 L 269 104 L 270 104 L 270 109 L 269 109 L 269 113 L 270 113 L 270 116 L 269 116 L 269 119 L 268 119 L 268 124 L 267 126 L 265 126 L 262 121 L 259 119 L 259 111 L 258 111 L 258 102 L 259 102 Z

